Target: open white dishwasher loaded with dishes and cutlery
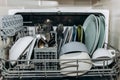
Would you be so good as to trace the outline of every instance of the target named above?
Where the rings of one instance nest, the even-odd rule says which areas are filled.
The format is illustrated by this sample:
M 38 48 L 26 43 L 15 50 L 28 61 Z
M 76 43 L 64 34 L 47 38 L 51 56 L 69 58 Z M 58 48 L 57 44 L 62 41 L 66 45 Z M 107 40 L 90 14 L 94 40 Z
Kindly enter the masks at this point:
M 8 16 L 20 16 L 21 24 L 17 25 L 19 26 L 17 28 L 11 26 L 1 28 L 3 40 L 6 37 L 13 38 L 9 50 L 9 59 L 0 59 L 0 72 L 4 79 L 117 80 L 120 72 L 119 50 L 108 44 L 108 10 L 79 8 L 12 9 L 9 10 L 8 14 Z M 100 18 L 104 20 L 104 32 L 98 30 L 96 33 L 93 24 L 100 25 Z M 81 26 L 91 26 L 91 28 L 81 28 Z M 78 27 L 80 29 L 77 29 Z M 100 27 L 97 28 L 100 29 Z M 76 35 L 74 29 L 77 31 Z M 79 41 L 81 37 L 79 39 L 76 37 L 79 36 L 79 31 L 82 29 L 83 32 L 80 34 L 84 34 L 84 37 L 82 37 L 82 41 Z M 91 30 L 90 33 L 89 30 Z M 94 47 L 96 43 L 91 46 L 89 42 L 91 41 L 92 44 L 94 36 L 100 35 L 100 33 L 101 36 L 105 35 L 104 41 L 101 43 L 102 46 Z M 29 37 L 25 38 L 26 36 Z M 91 39 L 89 40 L 87 37 Z M 100 38 L 96 39 L 97 41 L 100 40 Z M 83 48 L 83 46 L 85 47 L 83 43 L 87 46 L 88 51 Z M 20 49 L 24 46 L 25 50 Z M 100 49 L 99 51 L 98 48 L 111 51 L 114 57 L 108 57 L 107 52 L 105 53 L 104 50 L 102 52 Z M 93 58 L 95 52 L 96 55 L 98 54 L 97 56 L 101 55 L 101 57 Z M 19 58 L 16 58 L 18 57 L 16 54 Z M 103 55 L 106 57 L 102 57 Z

